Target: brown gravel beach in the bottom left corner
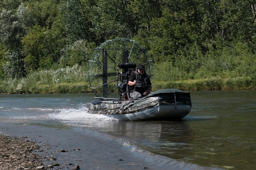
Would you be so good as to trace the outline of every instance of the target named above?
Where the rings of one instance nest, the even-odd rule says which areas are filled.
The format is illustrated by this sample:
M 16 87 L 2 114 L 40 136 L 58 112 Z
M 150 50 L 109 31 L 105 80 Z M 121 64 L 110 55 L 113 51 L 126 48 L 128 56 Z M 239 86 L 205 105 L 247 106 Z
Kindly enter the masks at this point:
M 42 158 L 34 154 L 39 148 L 26 137 L 0 135 L 0 170 L 47 169 L 41 163 Z

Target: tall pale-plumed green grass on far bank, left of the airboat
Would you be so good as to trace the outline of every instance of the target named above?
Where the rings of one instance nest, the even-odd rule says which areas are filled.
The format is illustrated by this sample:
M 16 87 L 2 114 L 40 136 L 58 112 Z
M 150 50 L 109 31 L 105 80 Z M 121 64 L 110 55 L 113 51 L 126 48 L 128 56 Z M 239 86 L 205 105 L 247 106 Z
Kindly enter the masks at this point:
M 0 93 L 86 93 L 90 92 L 87 71 L 79 66 L 41 70 L 21 79 L 0 81 Z

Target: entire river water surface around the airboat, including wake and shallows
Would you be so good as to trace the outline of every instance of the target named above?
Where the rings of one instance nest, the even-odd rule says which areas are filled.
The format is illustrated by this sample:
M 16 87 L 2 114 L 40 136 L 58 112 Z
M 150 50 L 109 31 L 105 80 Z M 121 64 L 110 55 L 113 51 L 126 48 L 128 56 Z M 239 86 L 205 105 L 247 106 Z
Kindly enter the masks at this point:
M 55 169 L 256 170 L 255 90 L 191 92 L 181 121 L 91 115 L 93 96 L 0 95 L 0 134 L 37 141 Z

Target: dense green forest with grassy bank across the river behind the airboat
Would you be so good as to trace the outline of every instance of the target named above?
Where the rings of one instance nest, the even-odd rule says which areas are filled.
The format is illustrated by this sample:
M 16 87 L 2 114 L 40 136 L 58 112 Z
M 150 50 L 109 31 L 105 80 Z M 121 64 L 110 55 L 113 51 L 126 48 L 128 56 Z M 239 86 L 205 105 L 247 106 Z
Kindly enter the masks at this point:
M 93 49 L 115 38 L 146 47 L 153 89 L 256 88 L 255 0 L 4 0 L 0 12 L 0 93 L 88 92 Z

